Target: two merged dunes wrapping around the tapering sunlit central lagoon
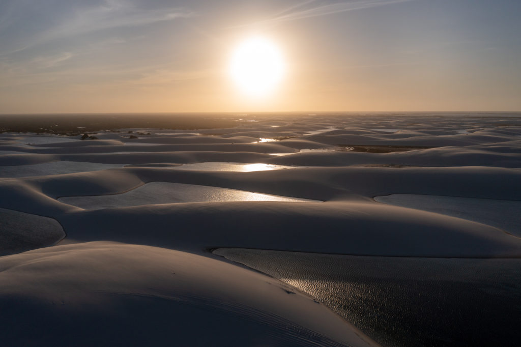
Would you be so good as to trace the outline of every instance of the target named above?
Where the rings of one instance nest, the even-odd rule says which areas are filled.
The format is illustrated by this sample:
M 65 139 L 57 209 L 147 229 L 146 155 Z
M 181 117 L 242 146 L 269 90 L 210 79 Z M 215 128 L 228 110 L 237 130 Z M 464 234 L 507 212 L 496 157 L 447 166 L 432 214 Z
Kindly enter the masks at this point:
M 356 255 L 519 257 L 520 240 L 496 228 L 369 201 L 378 193 L 400 190 L 508 199 L 519 196 L 521 190 L 513 188 L 521 184 L 520 175 L 515 169 L 476 167 L 257 172 L 137 167 L 1 181 L 6 199 L 0 207 L 56 218 L 72 239 L 83 241 L 194 251 L 228 246 Z M 150 181 L 277 191 L 329 202 L 188 203 L 82 212 L 56 200 L 64 195 L 118 194 Z M 146 236 L 141 230 L 148 230 Z

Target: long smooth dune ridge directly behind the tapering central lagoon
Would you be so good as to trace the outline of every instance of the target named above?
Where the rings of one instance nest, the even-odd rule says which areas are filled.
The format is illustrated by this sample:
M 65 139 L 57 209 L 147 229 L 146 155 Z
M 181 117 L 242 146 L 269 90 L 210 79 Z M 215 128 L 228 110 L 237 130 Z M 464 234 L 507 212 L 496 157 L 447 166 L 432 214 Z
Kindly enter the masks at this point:
M 118 194 L 153 181 L 201 184 L 320 201 L 371 201 L 373 196 L 396 193 L 521 200 L 521 171 L 506 168 L 318 167 L 214 172 L 127 167 L 3 180 L 0 181 L 0 190 L 6 199 L 0 201 L 0 207 L 13 208 L 17 204 L 18 194 L 22 192 L 15 187 L 25 187 L 26 201 L 14 209 L 43 214 L 38 209 L 44 209 L 46 204 L 33 203 L 31 195 L 35 198 L 43 192 L 55 199 L 60 196 Z M 49 204 L 54 202 L 49 201 Z

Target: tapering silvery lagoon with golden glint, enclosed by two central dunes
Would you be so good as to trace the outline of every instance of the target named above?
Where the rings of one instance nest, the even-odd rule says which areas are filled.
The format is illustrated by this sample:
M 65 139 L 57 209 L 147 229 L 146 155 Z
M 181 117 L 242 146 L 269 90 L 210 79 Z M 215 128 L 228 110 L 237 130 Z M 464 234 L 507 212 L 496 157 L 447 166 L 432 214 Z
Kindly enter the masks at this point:
M 102 209 L 149 204 L 221 201 L 287 201 L 316 202 L 316 200 L 258 194 L 235 189 L 207 187 L 205 185 L 151 182 L 130 192 L 115 195 L 60 197 L 60 202 L 84 209 Z

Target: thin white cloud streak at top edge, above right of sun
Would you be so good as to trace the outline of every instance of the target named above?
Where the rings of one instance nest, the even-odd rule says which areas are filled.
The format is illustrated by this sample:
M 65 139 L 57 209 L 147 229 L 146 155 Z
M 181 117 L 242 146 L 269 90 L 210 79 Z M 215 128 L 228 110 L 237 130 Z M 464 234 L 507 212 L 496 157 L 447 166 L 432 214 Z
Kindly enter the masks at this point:
M 292 20 L 299 20 L 299 19 L 306 19 L 306 18 L 312 18 L 312 17 L 320 17 L 320 16 L 327 16 L 332 14 L 338 14 L 342 12 L 347 11 L 353 11 L 353 10 L 359 10 L 364 8 L 371 8 L 371 7 L 378 7 L 378 6 L 385 6 L 385 5 L 391 5 L 391 4 L 398 4 L 398 3 L 405 3 L 410 2 L 414 0 L 354 0 L 349 2 L 341 2 L 341 3 L 335 3 L 335 4 L 328 4 L 328 5 L 321 5 L 321 6 L 315 6 L 311 8 L 304 8 L 303 6 L 315 3 L 315 1 L 304 1 L 303 3 L 294 6 L 290 8 L 289 10 L 286 9 L 282 11 L 281 13 L 278 13 L 272 18 L 268 18 L 263 21 L 259 21 L 254 23 L 255 26 L 274 26 L 276 24 L 292 21 Z M 251 24 L 250 24 L 251 25 Z

